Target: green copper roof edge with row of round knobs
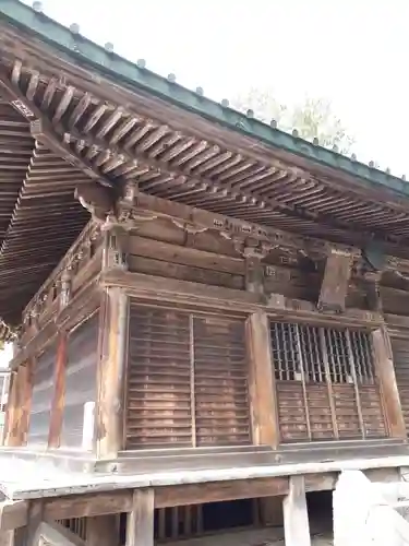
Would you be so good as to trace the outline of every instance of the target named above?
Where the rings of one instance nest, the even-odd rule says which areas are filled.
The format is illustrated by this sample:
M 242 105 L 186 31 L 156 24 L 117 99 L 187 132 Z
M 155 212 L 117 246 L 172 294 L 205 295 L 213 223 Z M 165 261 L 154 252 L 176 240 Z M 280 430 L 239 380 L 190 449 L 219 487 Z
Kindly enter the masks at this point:
M 336 168 L 358 177 L 368 187 L 383 186 L 404 198 L 409 197 L 409 185 L 388 173 L 371 168 L 353 158 L 324 149 L 296 135 L 270 127 L 228 107 L 227 102 L 218 104 L 203 96 L 202 90 L 190 91 L 175 82 L 172 74 L 166 79 L 145 68 L 143 61 L 136 64 L 112 52 L 112 46 L 100 47 L 79 34 L 77 25 L 67 28 L 47 17 L 40 11 L 40 2 L 29 8 L 19 0 L 0 0 L 0 21 L 5 21 L 22 31 L 35 34 L 65 54 L 81 59 L 100 73 L 117 81 L 144 90 L 180 108 L 220 123 L 233 131 L 263 141 L 270 146 L 297 154 L 326 167 Z M 251 112 L 249 112 L 251 114 Z

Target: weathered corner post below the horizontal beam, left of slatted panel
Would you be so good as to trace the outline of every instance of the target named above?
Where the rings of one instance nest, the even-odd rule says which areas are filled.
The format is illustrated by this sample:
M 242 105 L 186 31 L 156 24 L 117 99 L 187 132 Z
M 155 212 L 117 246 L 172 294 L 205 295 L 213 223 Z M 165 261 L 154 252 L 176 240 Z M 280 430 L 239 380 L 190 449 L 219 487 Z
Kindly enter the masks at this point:
M 115 459 L 124 443 L 124 378 L 128 361 L 129 298 L 122 288 L 107 288 L 108 309 L 104 335 L 108 352 L 98 370 L 96 407 L 97 456 Z

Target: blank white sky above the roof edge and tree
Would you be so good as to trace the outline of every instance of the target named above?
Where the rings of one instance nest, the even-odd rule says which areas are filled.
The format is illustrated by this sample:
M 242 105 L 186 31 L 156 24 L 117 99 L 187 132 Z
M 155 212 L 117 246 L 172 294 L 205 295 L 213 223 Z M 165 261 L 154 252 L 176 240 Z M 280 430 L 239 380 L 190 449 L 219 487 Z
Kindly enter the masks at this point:
M 289 105 L 330 99 L 358 159 L 409 178 L 408 0 L 43 0 L 43 11 L 216 100 L 250 87 Z

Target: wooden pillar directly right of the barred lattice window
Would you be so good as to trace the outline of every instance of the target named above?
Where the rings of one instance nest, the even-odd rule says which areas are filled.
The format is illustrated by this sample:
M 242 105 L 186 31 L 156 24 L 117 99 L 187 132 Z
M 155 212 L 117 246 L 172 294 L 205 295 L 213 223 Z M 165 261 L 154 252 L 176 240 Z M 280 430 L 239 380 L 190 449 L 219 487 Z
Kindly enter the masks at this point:
M 396 384 L 394 357 L 386 325 L 372 332 L 372 345 L 389 436 L 390 438 L 406 439 L 405 418 Z

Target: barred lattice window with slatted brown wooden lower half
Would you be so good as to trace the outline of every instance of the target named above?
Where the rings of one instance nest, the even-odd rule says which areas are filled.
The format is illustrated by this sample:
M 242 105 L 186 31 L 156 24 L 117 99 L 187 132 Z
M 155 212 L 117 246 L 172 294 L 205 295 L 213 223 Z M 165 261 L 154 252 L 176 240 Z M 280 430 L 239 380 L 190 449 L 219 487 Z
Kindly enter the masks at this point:
M 282 441 L 386 435 L 370 333 L 272 322 Z

